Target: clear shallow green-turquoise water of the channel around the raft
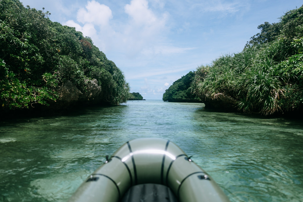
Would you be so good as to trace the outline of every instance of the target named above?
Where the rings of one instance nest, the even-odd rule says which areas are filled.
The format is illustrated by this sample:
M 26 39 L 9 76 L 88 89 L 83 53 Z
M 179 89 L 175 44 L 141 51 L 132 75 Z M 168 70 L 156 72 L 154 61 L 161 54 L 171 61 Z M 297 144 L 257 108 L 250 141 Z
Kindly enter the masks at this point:
M 105 155 L 140 137 L 175 142 L 231 201 L 303 199 L 302 120 L 128 101 L 0 122 L 0 201 L 67 201 Z

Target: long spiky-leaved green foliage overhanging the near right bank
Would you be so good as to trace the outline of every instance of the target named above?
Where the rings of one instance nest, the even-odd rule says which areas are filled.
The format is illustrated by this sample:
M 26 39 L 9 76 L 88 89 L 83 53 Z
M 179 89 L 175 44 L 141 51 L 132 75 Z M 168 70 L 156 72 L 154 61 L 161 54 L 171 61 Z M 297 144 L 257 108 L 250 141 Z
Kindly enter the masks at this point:
M 303 103 L 303 6 L 278 23 L 265 22 L 244 50 L 197 69 L 193 92 L 212 100 L 235 98 L 243 112 L 281 114 Z

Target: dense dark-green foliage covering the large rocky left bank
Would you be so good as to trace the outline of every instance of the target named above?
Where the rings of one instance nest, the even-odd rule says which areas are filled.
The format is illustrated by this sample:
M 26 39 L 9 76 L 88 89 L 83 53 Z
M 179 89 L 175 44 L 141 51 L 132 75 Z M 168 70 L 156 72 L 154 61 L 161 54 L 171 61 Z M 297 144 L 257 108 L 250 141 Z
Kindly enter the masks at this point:
M 43 8 L 44 9 L 44 8 Z M 49 12 L 0 0 L 0 103 L 2 110 L 47 105 L 71 81 L 81 92 L 97 80 L 102 101 L 125 102 L 129 86 L 120 69 L 75 28 L 49 20 Z

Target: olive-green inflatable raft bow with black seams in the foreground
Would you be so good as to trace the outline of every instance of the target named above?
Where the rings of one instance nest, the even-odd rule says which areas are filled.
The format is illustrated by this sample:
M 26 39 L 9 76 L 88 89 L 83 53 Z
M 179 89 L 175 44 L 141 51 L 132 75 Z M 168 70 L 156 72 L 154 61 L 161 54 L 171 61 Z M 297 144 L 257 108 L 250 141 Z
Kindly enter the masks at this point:
M 70 201 L 229 201 L 177 145 L 158 138 L 126 142 L 91 174 Z

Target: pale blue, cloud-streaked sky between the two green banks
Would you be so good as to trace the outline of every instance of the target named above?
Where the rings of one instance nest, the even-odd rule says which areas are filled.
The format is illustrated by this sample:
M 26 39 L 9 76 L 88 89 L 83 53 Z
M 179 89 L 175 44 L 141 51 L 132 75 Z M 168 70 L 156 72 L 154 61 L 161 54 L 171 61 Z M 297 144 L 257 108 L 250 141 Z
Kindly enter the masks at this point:
M 276 23 L 302 0 L 20 0 L 75 27 L 125 75 L 131 92 L 161 100 L 172 83 L 241 52 L 258 25 Z

